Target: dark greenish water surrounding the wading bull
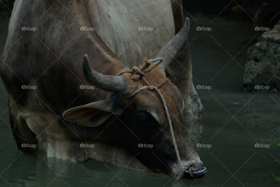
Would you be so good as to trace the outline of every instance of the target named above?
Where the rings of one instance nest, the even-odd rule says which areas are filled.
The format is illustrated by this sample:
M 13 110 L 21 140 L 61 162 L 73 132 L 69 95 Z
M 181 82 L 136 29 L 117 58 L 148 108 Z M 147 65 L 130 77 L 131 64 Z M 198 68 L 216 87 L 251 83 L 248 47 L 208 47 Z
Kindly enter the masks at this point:
M 0 186 L 280 186 L 272 175 L 280 176 L 280 147 L 271 147 L 280 137 L 280 96 L 242 91 L 246 51 L 260 33 L 248 23 L 218 17 L 209 24 L 214 16 L 192 16 L 198 22 L 191 19 L 189 35 L 190 41 L 194 39 L 190 44 L 194 83 L 212 88 L 197 90 L 205 110 L 203 121 L 185 126 L 195 147 L 197 143 L 211 145 L 196 147 L 208 168 L 204 179 L 176 182 L 161 174 L 130 171 L 94 160 L 71 163 L 47 158 L 43 149 L 38 155 L 22 153 L 9 127 L 7 93 L 1 82 Z M 0 19 L 3 51 L 8 17 Z M 208 25 L 212 27 L 210 32 L 196 30 L 197 26 Z M 232 60 L 212 79 L 232 59 L 230 55 L 234 57 L 255 35 L 234 58 L 240 65 Z M 270 147 L 258 148 L 256 143 Z

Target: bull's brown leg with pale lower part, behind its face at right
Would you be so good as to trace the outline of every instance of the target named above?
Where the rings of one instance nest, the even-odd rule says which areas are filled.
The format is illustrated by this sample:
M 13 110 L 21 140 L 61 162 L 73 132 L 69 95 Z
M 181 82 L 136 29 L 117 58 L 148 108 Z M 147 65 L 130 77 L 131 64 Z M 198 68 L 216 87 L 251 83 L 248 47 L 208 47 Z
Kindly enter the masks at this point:
M 186 40 L 165 72 L 171 82 L 181 91 L 185 103 L 184 119 L 194 121 L 201 119 L 203 106 L 192 82 L 192 60 L 188 43 Z

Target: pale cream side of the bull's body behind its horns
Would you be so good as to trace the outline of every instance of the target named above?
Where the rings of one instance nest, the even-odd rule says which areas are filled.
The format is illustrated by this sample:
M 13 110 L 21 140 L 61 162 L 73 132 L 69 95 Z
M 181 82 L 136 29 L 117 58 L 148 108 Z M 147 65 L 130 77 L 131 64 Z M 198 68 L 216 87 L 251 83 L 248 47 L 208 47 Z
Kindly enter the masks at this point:
M 170 0 L 90 2 L 95 31 L 129 67 L 154 58 L 175 34 Z

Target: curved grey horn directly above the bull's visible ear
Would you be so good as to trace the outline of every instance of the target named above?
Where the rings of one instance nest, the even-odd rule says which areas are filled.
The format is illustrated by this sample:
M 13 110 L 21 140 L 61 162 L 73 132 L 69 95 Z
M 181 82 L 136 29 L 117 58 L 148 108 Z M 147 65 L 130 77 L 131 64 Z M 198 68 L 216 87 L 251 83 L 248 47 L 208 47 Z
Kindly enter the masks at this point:
M 90 67 L 90 61 L 87 54 L 85 54 L 83 60 L 83 72 L 85 79 L 92 86 L 96 86 L 105 91 L 113 91 L 117 93 L 121 93 L 125 90 L 125 80 L 122 76 L 104 75 L 93 70 Z

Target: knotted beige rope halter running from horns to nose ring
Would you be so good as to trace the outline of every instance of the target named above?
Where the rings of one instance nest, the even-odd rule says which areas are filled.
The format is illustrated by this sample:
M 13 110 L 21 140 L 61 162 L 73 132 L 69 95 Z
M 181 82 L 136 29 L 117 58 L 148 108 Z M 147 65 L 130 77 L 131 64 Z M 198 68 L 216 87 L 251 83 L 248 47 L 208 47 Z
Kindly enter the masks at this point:
M 177 148 L 177 143 L 176 143 L 176 139 L 175 139 L 175 136 L 174 136 L 174 131 L 173 131 L 170 115 L 169 115 L 169 112 L 168 112 L 168 108 L 167 108 L 167 105 L 166 105 L 166 102 L 165 102 L 165 99 L 164 99 L 162 93 L 158 89 L 163 84 L 168 82 L 169 79 L 168 78 L 165 79 L 162 83 L 160 83 L 157 86 L 151 86 L 149 84 L 149 82 L 144 77 L 145 73 L 150 72 L 151 70 L 153 70 L 157 65 L 162 63 L 162 61 L 163 61 L 163 58 L 156 58 L 156 59 L 148 60 L 147 57 L 146 57 L 146 58 L 144 58 L 144 64 L 143 65 L 139 65 L 138 67 L 134 66 L 134 67 L 132 67 L 131 70 L 122 71 L 122 72 L 118 73 L 116 76 L 120 76 L 120 75 L 122 75 L 124 73 L 132 73 L 132 77 L 131 77 L 132 80 L 137 81 L 137 80 L 142 78 L 144 80 L 144 82 L 149 86 L 149 87 L 148 86 L 143 86 L 142 88 L 137 89 L 136 91 L 132 92 L 129 96 L 126 96 L 127 98 L 135 96 L 137 93 L 139 93 L 140 91 L 145 90 L 145 89 L 150 89 L 151 91 L 155 90 L 158 93 L 158 95 L 160 96 L 160 99 L 161 99 L 161 101 L 163 103 L 165 114 L 166 114 L 167 119 L 168 119 L 169 129 L 170 129 L 170 132 L 171 132 L 171 138 L 172 138 L 172 142 L 173 142 L 174 149 L 175 149 L 175 152 L 176 152 L 176 157 L 177 157 L 178 162 L 179 162 L 179 164 L 181 166 L 181 169 L 179 171 L 179 174 L 178 174 L 176 180 L 181 179 L 181 177 L 183 176 L 184 173 L 189 173 L 190 176 L 194 177 L 193 174 L 192 174 L 192 169 L 193 169 L 193 167 L 195 167 L 195 163 L 193 163 L 192 167 L 187 167 L 187 166 L 184 166 L 182 164 L 182 162 L 181 162 L 181 157 L 179 155 L 179 151 L 178 151 L 178 148 Z

